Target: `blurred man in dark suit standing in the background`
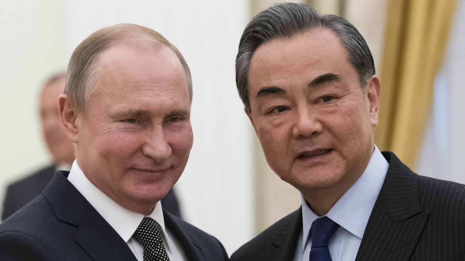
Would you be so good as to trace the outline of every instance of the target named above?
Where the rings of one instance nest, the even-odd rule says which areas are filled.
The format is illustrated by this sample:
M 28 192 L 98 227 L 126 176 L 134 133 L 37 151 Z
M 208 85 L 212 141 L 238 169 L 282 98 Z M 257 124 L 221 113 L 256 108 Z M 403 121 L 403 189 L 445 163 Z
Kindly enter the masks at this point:
M 66 73 L 49 77 L 40 92 L 40 123 L 42 135 L 53 164 L 22 178 L 7 187 L 3 202 L 2 220 L 13 215 L 37 197 L 52 180 L 57 170 L 70 170 L 74 160 L 72 143 L 66 137 L 65 127 L 61 123 L 57 109 L 58 96 L 65 90 Z M 179 203 L 172 190 L 161 200 L 163 208 L 180 217 Z

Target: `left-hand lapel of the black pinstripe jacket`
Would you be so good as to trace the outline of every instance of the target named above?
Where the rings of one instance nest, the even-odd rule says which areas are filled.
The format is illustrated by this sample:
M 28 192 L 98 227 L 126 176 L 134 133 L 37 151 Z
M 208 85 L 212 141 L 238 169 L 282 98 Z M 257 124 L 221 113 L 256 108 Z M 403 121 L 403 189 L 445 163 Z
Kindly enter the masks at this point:
M 266 246 L 268 261 L 290 261 L 294 257 L 299 235 L 302 232 L 302 207 L 291 213 L 290 222 L 276 229 Z

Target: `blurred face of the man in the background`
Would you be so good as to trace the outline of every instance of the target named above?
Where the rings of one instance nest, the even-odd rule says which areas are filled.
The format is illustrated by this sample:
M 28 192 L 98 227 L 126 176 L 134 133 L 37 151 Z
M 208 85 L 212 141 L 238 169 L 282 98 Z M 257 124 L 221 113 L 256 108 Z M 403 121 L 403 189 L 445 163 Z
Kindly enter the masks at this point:
M 48 150 L 56 163 L 71 164 L 74 160 L 72 143 L 66 136 L 57 109 L 58 96 L 65 90 L 66 78 L 45 86 L 40 93 L 40 123 Z

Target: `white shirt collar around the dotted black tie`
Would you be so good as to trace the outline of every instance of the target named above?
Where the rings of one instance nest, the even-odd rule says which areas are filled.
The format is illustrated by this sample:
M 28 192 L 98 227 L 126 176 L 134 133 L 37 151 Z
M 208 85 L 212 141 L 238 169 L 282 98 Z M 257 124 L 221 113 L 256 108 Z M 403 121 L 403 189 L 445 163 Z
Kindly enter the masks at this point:
M 144 218 L 140 213 L 128 210 L 100 191 L 93 185 L 84 175 L 76 160 L 71 166 L 71 171 L 68 175 L 68 180 L 76 187 L 76 189 L 86 198 L 86 200 L 99 212 L 99 214 L 112 226 L 112 228 L 128 242 Z M 157 202 L 152 212 L 147 215 L 155 220 L 161 228 L 161 233 L 166 239 L 167 250 L 170 251 L 173 246 L 172 239 L 166 233 L 165 219 L 163 218 L 163 210 L 161 203 Z

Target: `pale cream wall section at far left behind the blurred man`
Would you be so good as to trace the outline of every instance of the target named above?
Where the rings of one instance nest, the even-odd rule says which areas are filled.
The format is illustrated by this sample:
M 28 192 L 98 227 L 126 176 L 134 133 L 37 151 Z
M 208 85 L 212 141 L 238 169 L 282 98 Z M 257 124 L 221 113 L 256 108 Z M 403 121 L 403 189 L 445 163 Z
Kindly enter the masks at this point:
M 37 108 L 45 78 L 66 70 L 60 3 L 0 0 L 0 205 L 8 182 L 49 159 Z

